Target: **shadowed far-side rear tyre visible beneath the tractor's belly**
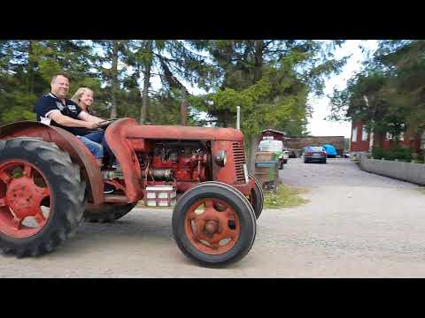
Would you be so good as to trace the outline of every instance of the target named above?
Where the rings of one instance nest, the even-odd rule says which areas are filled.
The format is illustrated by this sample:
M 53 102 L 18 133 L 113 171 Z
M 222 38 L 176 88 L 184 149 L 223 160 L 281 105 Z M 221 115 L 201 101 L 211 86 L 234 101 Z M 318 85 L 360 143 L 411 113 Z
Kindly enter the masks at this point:
M 102 204 L 96 208 L 86 208 L 84 210 L 84 221 L 91 223 L 110 223 L 120 219 L 130 212 L 137 203 L 111 203 Z

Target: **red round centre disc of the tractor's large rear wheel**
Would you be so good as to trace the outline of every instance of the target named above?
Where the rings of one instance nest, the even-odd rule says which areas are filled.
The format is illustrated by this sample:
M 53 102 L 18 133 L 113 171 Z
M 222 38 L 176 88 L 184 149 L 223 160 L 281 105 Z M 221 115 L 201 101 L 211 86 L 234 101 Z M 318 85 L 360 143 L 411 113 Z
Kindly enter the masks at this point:
M 5 201 L 19 219 L 35 216 L 39 207 L 40 193 L 34 180 L 28 177 L 13 179 L 8 186 Z

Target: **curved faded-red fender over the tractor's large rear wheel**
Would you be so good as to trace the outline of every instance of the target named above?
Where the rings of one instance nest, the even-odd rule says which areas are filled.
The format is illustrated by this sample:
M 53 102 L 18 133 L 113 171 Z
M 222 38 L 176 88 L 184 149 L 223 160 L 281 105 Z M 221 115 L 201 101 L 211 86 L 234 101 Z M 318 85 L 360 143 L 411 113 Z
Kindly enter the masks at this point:
M 89 201 L 95 205 L 104 202 L 102 173 L 95 156 L 89 152 L 81 140 L 65 129 L 35 121 L 19 121 L 0 126 L 0 140 L 24 136 L 54 142 L 58 148 L 66 151 L 71 156 L 73 163 L 77 163 L 81 167 L 81 177 L 86 182 Z

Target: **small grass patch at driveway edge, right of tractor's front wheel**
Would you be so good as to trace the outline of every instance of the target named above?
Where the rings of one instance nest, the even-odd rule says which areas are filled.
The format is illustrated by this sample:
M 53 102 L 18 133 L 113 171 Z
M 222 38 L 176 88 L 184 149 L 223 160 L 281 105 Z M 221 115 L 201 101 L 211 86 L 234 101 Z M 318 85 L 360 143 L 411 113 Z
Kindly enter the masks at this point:
M 301 198 L 299 194 L 308 193 L 305 188 L 293 186 L 279 186 L 276 193 L 264 192 L 264 207 L 265 208 L 291 208 L 305 204 L 308 200 Z

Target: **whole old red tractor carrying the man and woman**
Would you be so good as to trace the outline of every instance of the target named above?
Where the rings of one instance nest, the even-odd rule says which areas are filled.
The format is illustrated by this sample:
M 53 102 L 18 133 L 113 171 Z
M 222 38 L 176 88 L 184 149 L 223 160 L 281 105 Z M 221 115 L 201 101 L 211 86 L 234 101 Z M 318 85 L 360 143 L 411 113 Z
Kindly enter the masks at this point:
M 99 169 L 81 140 L 56 126 L 0 127 L 0 250 L 50 252 L 84 219 L 112 222 L 135 208 L 174 205 L 174 240 L 201 265 L 218 267 L 251 250 L 263 193 L 248 175 L 243 133 L 233 128 L 105 125 L 118 168 Z M 104 194 L 104 183 L 117 189 Z M 175 204 L 174 204 L 175 201 Z

